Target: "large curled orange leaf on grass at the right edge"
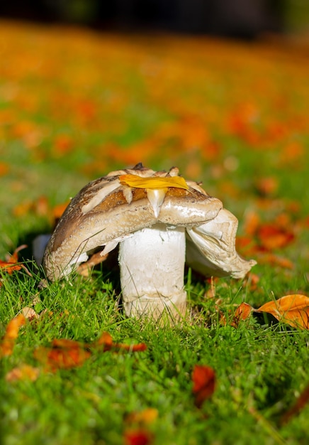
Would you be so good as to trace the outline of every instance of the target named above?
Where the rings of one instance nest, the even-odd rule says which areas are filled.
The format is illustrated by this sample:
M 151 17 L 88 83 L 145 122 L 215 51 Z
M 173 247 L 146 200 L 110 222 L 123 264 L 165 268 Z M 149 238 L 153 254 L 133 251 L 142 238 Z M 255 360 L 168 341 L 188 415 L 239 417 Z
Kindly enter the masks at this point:
M 263 304 L 256 312 L 271 313 L 279 321 L 293 328 L 309 329 L 309 297 L 301 294 L 286 295 Z

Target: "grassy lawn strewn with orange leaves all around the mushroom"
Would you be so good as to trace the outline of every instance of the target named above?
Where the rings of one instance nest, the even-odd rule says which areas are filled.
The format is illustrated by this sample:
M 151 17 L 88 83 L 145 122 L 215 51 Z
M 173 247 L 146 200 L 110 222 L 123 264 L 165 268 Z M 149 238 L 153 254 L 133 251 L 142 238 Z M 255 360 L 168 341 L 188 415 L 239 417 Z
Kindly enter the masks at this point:
M 31 272 L 1 271 L 0 337 L 35 311 L 0 359 L 3 443 L 307 444 L 309 404 L 284 416 L 309 383 L 308 329 L 234 313 L 309 296 L 308 43 L 0 25 L 0 259 L 27 244 Z M 176 326 L 125 318 L 116 268 L 46 283 L 32 259 L 82 186 L 138 162 L 202 181 L 257 260 L 243 281 L 186 269 Z M 103 332 L 118 346 L 99 347 Z M 215 373 L 202 404 L 196 365 Z

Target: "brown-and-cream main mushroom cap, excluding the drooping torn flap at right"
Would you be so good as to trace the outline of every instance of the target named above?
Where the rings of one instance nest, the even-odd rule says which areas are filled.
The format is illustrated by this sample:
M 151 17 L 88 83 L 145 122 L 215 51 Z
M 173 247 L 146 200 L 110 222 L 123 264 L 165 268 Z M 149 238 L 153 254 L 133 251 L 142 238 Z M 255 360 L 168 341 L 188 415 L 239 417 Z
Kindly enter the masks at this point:
M 147 179 L 145 187 L 129 186 L 130 181 L 125 180 L 130 175 Z M 157 178 L 164 178 L 159 179 L 163 182 L 155 181 Z M 181 186 L 174 182 L 180 179 Z M 47 278 L 67 276 L 88 259 L 91 251 L 105 246 L 102 253 L 106 254 L 137 230 L 158 223 L 170 227 L 203 225 L 222 208 L 223 203 L 197 183 L 184 181 L 178 168 L 156 172 L 137 164 L 113 171 L 84 186 L 67 206 L 45 250 Z

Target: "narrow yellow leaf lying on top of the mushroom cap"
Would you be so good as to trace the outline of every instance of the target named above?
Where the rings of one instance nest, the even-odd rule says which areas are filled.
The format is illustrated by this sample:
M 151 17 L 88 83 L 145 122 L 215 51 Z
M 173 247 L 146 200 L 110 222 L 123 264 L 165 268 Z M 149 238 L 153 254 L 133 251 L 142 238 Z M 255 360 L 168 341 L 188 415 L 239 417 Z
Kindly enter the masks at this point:
M 123 186 L 130 186 L 133 188 L 158 189 L 174 187 L 189 190 L 189 186 L 181 176 L 166 176 L 165 178 L 141 178 L 137 175 L 128 174 L 119 176 L 119 181 Z

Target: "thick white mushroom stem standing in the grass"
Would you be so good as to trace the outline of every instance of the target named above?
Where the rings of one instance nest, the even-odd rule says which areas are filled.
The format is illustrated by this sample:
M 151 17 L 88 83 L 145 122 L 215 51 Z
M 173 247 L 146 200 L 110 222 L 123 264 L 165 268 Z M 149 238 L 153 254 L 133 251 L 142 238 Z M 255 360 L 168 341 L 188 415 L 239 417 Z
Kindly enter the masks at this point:
M 127 316 L 179 318 L 186 310 L 184 227 L 157 224 L 120 242 L 119 264 Z

